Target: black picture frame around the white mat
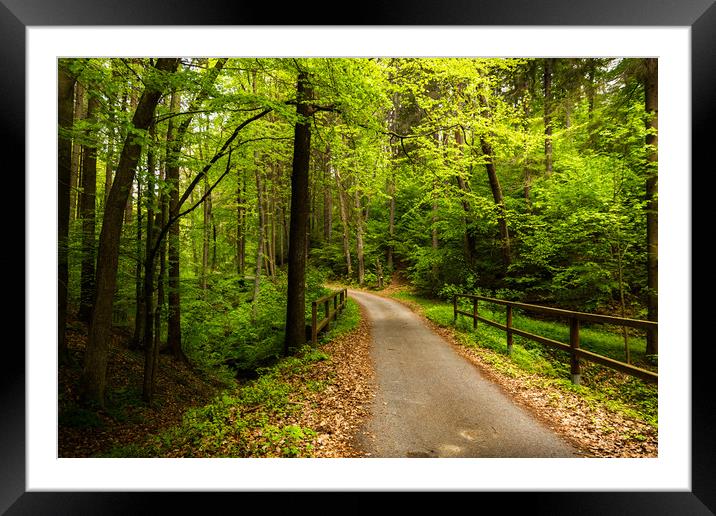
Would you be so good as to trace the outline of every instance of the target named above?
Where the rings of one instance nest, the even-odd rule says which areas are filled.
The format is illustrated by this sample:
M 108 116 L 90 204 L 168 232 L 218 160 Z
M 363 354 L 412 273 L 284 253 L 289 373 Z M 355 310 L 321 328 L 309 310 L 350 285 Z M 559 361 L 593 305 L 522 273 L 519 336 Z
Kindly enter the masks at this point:
M 691 27 L 692 162 L 709 164 L 716 113 L 716 6 L 714 0 L 501 0 L 429 3 L 405 0 L 351 6 L 342 14 L 337 4 L 323 9 L 220 0 L 0 0 L 0 146 L 2 156 L 19 157 L 13 170 L 25 170 L 25 29 L 29 26 L 130 26 L 130 25 L 494 25 L 494 26 L 688 26 Z M 349 19 L 347 19 L 349 18 Z M 694 109 L 698 106 L 698 109 Z M 5 168 L 6 172 L 9 168 Z M 692 170 L 696 170 L 695 166 Z M 9 173 L 9 172 L 8 172 Z M 24 175 L 18 190 L 25 191 Z M 685 178 L 691 178 L 685 171 Z M 695 190 L 692 189 L 692 192 Z M 694 202 L 692 206 L 696 206 Z M 695 221 L 695 218 L 692 217 Z M 23 234 L 15 242 L 25 242 Z M 693 231 L 693 234 L 697 234 Z M 18 244 L 19 245 L 19 244 Z M 23 253 L 24 245 L 22 246 Z M 692 255 L 693 262 L 695 256 Z M 26 263 L 22 260 L 22 263 Z M 704 269 L 701 269 L 704 270 Z M 692 268 L 692 277 L 696 272 Z M 24 276 L 31 274 L 24 270 Z M 684 300 L 691 304 L 692 300 Z M 23 303 L 24 306 L 24 303 Z M 27 306 L 26 310 L 32 310 Z M 692 321 L 696 318 L 692 315 Z M 16 340 L 13 340 L 16 342 Z M 48 352 L 53 350 L 48 343 Z M 7 345 L 6 348 L 11 346 Z M 0 375 L 0 512 L 16 514 L 145 514 L 187 510 L 189 493 L 26 492 L 25 489 L 25 353 L 17 344 L 4 355 Z M 7 353 L 4 351 L 4 353 Z M 512 512 L 518 506 L 531 514 L 714 514 L 716 513 L 716 446 L 713 418 L 716 412 L 710 378 L 709 339 L 692 341 L 692 490 L 690 492 L 509 492 L 469 493 L 481 503 L 494 501 Z M 231 504 L 248 508 L 258 497 L 279 509 L 300 506 L 303 493 L 194 493 L 198 503 Z M 350 497 L 363 493 L 346 493 Z M 421 500 L 425 493 L 413 493 Z M 457 493 L 456 493 L 457 494 Z M 194 500 L 195 497 L 191 497 Z M 453 499 L 453 503 L 458 500 Z M 462 500 L 462 498 L 459 498 Z M 458 505 L 453 505 L 459 507 Z M 471 501 L 470 503 L 475 503 Z

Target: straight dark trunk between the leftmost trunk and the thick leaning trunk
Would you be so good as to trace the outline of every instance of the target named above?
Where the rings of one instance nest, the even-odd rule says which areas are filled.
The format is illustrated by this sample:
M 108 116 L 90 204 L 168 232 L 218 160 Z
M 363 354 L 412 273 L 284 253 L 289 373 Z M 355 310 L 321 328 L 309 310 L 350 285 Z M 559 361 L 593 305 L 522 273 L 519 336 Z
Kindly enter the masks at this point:
M 87 101 L 87 121 L 96 122 L 99 99 L 90 95 Z M 89 132 L 89 131 L 88 131 Z M 87 136 L 90 136 L 89 134 Z M 80 212 L 82 214 L 82 272 L 80 278 L 79 317 L 89 322 L 94 304 L 94 264 L 95 264 L 95 198 L 97 194 L 97 144 L 85 145 L 82 163 L 82 195 Z

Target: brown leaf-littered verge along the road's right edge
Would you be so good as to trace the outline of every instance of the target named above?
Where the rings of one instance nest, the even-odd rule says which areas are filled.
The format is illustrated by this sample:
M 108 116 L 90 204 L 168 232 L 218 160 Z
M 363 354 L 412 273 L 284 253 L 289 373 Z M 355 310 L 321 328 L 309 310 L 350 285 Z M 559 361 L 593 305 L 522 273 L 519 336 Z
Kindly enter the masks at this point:
M 566 390 L 534 374 L 505 374 L 494 367 L 495 352 L 467 347 L 458 332 L 441 326 L 422 313 L 422 307 L 409 300 L 392 297 L 410 292 L 409 284 L 394 278 L 391 285 L 373 294 L 403 303 L 417 313 L 435 333 L 474 364 L 486 377 L 501 387 L 516 403 L 537 419 L 559 432 L 588 457 L 645 458 L 658 456 L 658 430 L 645 421 L 615 410 L 609 403 Z

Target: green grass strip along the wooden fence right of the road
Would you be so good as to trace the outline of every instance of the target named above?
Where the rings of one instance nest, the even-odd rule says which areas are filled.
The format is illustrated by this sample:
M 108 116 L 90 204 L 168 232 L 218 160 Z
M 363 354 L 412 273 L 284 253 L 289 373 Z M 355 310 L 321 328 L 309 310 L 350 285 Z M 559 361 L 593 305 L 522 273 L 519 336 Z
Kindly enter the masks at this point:
M 489 350 L 489 353 L 481 355 L 482 358 L 502 374 L 510 377 L 533 375 L 530 381 L 537 382 L 538 385 L 556 386 L 576 392 L 590 402 L 603 404 L 611 410 L 645 421 L 655 428 L 658 426 L 658 397 L 655 385 L 617 374 L 596 364 L 584 364 L 582 385 L 573 385 L 570 381 L 569 355 L 564 351 L 514 336 L 512 353 L 508 354 L 507 338 L 503 330 L 482 322 L 478 323 L 475 330 L 472 319 L 462 315 L 458 315 L 455 322 L 452 303 L 426 299 L 409 292 L 398 292 L 392 297 L 417 304 L 431 321 L 457 330 L 456 337 L 462 345 Z M 463 306 L 461 309 L 471 311 L 472 307 Z M 480 306 L 480 315 L 505 323 L 504 308 L 491 311 L 490 307 L 484 304 Z M 564 323 L 514 314 L 513 326 L 553 340 L 569 342 L 569 328 Z M 623 361 L 621 338 L 621 335 L 597 328 L 580 331 L 584 349 Z M 635 341 L 636 346 L 642 345 L 638 339 L 630 339 L 630 344 L 632 341 Z M 621 356 L 618 354 L 620 351 Z

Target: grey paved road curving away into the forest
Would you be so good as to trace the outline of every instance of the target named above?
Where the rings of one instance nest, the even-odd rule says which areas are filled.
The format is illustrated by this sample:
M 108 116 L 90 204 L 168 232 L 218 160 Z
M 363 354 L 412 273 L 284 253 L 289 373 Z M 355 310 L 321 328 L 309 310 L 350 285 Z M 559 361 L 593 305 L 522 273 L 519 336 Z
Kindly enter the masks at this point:
M 373 324 L 372 457 L 573 457 L 577 451 L 391 299 L 349 291 Z

